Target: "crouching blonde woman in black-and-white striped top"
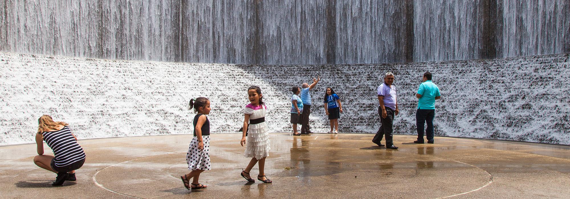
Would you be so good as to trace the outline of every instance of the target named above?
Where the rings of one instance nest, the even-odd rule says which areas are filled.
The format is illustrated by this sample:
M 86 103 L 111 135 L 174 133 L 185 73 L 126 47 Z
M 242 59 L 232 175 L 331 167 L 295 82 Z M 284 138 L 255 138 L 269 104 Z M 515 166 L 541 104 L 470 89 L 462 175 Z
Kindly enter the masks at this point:
M 34 157 L 34 163 L 58 175 L 51 185 L 62 185 L 66 180 L 75 181 L 75 170 L 85 162 L 85 152 L 77 143 L 77 138 L 67 123 L 54 122 L 50 115 L 42 115 L 38 123 L 38 133 L 35 135 L 38 155 Z M 44 141 L 55 156 L 43 155 Z

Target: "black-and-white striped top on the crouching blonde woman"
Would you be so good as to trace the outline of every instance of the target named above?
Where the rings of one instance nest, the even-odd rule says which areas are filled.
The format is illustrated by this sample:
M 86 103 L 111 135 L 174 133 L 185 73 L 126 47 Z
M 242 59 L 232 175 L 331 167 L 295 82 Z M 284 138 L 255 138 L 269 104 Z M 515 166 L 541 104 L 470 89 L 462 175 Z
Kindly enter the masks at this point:
M 43 132 L 43 140 L 54 151 L 56 167 L 65 167 L 85 158 L 83 148 L 79 146 L 69 127 L 58 131 Z

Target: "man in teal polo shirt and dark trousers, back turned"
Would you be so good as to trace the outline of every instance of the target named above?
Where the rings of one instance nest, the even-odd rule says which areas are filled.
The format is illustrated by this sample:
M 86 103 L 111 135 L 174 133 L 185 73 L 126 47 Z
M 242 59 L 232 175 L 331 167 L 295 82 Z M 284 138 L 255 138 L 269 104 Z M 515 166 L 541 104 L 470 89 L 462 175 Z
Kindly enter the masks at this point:
M 416 111 L 416 125 L 418 130 L 418 140 L 414 143 L 424 143 L 424 123 L 427 123 L 426 138 L 427 143 L 433 144 L 433 118 L 435 116 L 435 99 L 439 99 L 439 88 L 431 82 L 431 73 L 424 73 L 423 83 L 420 84 L 416 97 L 418 110 Z

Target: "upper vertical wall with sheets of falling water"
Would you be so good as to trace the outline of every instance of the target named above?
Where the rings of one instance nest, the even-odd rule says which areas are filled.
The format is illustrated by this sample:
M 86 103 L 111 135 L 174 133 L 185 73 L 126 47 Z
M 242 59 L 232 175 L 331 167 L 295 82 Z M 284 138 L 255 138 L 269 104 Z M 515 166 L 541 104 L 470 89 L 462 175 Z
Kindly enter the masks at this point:
M 0 51 L 355 64 L 570 53 L 567 0 L 4 0 Z

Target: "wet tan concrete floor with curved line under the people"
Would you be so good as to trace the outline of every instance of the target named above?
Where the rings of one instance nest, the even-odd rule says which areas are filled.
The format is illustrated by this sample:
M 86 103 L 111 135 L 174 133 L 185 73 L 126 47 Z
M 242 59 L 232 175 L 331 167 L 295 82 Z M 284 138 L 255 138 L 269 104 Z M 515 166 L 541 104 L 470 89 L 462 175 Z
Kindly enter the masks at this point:
M 270 134 L 265 173 L 272 184 L 239 176 L 240 134 L 211 135 L 206 189 L 186 190 L 192 135 L 79 140 L 87 161 L 77 181 L 51 186 L 55 174 L 33 163 L 35 144 L 0 147 L 2 198 L 569 198 L 570 147 L 436 137 L 398 150 L 371 134 Z M 44 144 L 45 146 L 45 144 Z M 46 146 L 47 152 L 51 149 Z M 251 175 L 258 174 L 257 165 Z

